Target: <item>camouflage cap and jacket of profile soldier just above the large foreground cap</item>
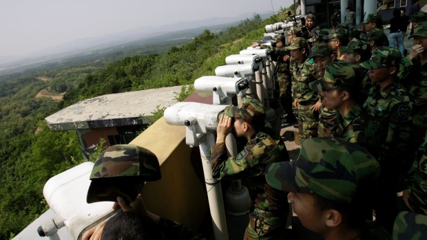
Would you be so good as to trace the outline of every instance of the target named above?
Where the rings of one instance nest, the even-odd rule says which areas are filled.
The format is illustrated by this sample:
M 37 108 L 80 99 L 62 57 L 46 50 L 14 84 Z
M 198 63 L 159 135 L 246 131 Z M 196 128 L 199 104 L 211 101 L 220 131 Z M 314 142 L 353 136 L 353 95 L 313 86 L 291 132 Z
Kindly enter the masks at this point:
M 362 67 L 353 63 L 330 63 L 326 67 L 323 78 L 310 84 L 313 91 L 329 91 L 338 87 L 362 87 L 360 76 Z M 342 138 L 346 142 L 354 142 L 366 146 L 364 131 L 367 129 L 368 115 L 362 107 L 355 105 L 345 116 L 337 114 L 331 136 Z

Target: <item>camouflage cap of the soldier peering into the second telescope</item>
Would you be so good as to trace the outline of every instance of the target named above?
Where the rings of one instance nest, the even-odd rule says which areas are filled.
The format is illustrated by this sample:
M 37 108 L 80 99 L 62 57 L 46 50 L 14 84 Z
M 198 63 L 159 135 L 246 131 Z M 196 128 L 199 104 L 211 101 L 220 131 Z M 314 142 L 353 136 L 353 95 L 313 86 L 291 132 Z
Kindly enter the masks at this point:
M 238 106 L 229 106 L 224 114 L 231 118 L 242 118 L 251 124 L 263 124 L 265 120 L 264 105 L 253 98 L 243 98 Z

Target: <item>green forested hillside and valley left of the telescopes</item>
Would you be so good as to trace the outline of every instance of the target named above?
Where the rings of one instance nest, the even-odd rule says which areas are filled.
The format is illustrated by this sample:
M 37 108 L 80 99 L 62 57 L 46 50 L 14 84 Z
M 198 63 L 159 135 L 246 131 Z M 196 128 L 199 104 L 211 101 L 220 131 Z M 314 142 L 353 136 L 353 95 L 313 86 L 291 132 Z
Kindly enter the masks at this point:
M 74 131 L 50 131 L 44 118 L 75 102 L 123 91 L 194 83 L 214 75 L 225 57 L 237 54 L 264 32 L 258 14 L 225 32 L 205 30 L 186 45 L 168 47 L 166 54 L 145 54 L 105 62 L 43 67 L 29 76 L 0 83 L 0 239 L 10 239 L 48 208 L 45 182 L 83 162 Z M 47 77 L 42 81 L 37 77 Z M 45 87 L 63 93 L 63 100 L 34 98 Z

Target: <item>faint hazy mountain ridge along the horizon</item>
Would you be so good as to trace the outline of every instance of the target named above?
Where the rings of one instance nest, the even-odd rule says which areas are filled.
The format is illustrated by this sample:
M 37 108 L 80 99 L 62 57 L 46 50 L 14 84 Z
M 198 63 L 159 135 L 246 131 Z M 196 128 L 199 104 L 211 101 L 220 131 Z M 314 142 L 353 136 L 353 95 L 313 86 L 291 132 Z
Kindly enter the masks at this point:
M 262 19 L 270 16 L 271 13 L 261 14 Z M 244 19 L 250 19 L 253 13 L 240 14 L 236 17 L 213 17 L 210 19 L 202 19 L 196 21 L 180 21 L 161 27 L 143 27 L 117 32 L 113 34 L 105 34 L 84 39 L 77 39 L 68 43 L 50 47 L 45 50 L 32 52 L 25 56 L 8 56 L 0 57 L 0 72 L 5 69 L 14 67 L 22 67 L 33 63 L 41 63 L 52 61 L 56 58 L 73 56 L 90 50 L 99 50 L 105 47 L 112 47 L 122 43 L 130 43 L 142 39 L 154 38 L 169 32 L 178 32 L 182 30 L 192 30 L 195 28 L 208 28 L 215 25 L 239 23 Z

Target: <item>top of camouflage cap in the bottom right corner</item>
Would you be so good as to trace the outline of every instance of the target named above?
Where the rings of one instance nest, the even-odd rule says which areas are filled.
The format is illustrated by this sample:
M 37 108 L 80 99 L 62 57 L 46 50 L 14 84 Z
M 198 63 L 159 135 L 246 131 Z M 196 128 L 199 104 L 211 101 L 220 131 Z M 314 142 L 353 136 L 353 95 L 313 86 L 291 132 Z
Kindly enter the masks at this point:
M 393 227 L 393 240 L 421 240 L 427 232 L 427 216 L 415 212 L 400 212 Z

